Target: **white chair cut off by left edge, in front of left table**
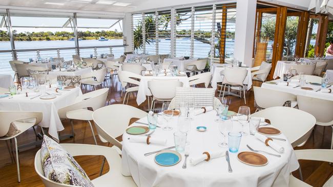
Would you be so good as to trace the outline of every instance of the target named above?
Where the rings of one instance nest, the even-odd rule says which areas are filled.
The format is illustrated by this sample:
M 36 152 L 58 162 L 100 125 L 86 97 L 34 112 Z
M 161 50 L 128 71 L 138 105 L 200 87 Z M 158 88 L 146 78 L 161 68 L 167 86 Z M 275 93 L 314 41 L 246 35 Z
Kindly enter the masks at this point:
M 15 155 L 16 155 L 16 169 L 17 169 L 17 179 L 18 182 L 21 181 L 20 179 L 20 172 L 19 172 L 19 160 L 18 160 L 18 146 L 17 146 L 17 139 L 16 137 L 31 127 L 38 125 L 41 120 L 43 119 L 42 112 L 32 112 L 32 111 L 0 111 L 0 141 L 7 141 L 14 139 L 15 142 Z M 14 124 L 20 132 L 12 136 L 5 136 L 9 129 L 10 125 Z M 44 134 L 43 128 L 41 131 Z

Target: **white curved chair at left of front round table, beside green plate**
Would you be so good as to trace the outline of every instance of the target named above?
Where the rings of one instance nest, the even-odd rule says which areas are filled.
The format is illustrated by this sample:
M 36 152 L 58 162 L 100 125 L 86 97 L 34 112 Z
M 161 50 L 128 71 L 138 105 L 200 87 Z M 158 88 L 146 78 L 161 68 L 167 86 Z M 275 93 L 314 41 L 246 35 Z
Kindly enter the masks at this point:
M 113 104 L 94 111 L 93 120 L 98 136 L 121 150 L 122 144 L 116 137 L 123 134 L 132 118 L 140 119 L 145 116 L 147 116 L 147 112 L 133 106 Z

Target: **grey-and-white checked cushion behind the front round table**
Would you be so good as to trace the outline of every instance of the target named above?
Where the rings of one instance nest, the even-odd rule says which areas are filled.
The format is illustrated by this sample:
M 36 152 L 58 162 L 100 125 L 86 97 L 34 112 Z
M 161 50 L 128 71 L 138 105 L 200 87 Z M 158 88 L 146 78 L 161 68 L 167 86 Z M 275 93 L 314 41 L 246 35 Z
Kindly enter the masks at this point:
M 175 107 L 179 107 L 186 97 L 194 97 L 195 109 L 201 107 L 214 107 L 214 88 L 193 88 L 193 87 L 176 87 Z

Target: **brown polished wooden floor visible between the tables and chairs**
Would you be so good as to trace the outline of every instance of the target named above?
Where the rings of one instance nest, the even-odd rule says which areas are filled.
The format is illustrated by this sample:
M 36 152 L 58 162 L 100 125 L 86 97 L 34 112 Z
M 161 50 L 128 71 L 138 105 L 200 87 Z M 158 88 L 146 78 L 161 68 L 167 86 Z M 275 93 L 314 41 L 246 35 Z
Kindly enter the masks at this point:
M 122 97 L 120 91 L 120 83 L 115 81 L 114 85 L 110 87 L 108 100 L 110 99 L 110 104 L 121 103 Z M 216 93 L 217 95 L 217 93 Z M 274 98 L 272 98 L 274 99 Z M 244 105 L 244 100 L 236 98 L 234 96 L 227 97 L 228 105 L 230 110 L 235 112 L 238 111 L 238 107 Z M 107 104 L 107 103 L 106 103 Z M 129 100 L 129 105 L 138 107 L 142 110 L 148 109 L 147 102 L 137 105 L 135 98 L 131 95 Z M 255 111 L 254 108 L 254 94 L 252 91 L 247 91 L 246 93 L 246 106 L 251 107 L 251 112 Z M 157 106 L 158 107 L 158 106 Z M 63 122 L 65 130 L 61 133 L 70 133 L 69 122 Z M 110 119 L 112 123 L 112 119 Z M 76 143 L 76 144 L 94 144 L 91 130 L 89 124 L 86 122 L 76 121 L 74 123 L 75 138 L 67 139 L 61 141 L 61 143 Z M 95 130 L 96 132 L 96 130 Z M 329 149 L 331 141 L 332 128 L 321 126 L 316 127 L 315 132 L 307 143 L 296 149 Z M 24 132 L 18 136 L 18 145 L 23 145 L 35 140 L 35 135 L 32 129 Z M 96 136 L 99 145 L 107 146 L 99 141 L 98 136 Z M 16 173 L 16 163 L 12 160 L 10 152 L 8 151 L 9 144 L 5 141 L 0 142 L 0 186 L 44 186 L 39 177 L 37 176 L 34 169 L 34 156 L 38 151 L 38 147 L 30 147 L 25 150 L 19 151 L 19 164 L 21 172 L 21 182 L 17 182 Z M 78 156 L 75 159 L 84 168 L 84 170 L 89 175 L 90 179 L 98 177 L 99 169 L 101 166 L 102 156 Z M 328 164 L 328 162 L 321 161 L 306 161 L 301 160 L 301 168 L 303 172 L 303 178 L 305 182 L 313 186 L 322 186 L 325 181 L 332 176 L 333 167 Z M 109 167 L 106 165 L 103 173 L 108 171 Z M 294 172 L 294 175 L 298 177 L 298 172 Z

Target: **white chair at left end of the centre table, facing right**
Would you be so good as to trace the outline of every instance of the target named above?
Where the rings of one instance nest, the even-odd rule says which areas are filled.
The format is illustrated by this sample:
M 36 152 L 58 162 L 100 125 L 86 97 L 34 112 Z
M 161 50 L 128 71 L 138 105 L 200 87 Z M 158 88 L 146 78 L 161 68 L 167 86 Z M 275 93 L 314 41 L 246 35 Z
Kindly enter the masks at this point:
M 126 101 L 126 97 L 127 97 L 127 102 L 126 104 L 128 104 L 129 102 L 129 98 L 130 98 L 130 94 L 133 93 L 133 97 L 134 97 L 134 92 L 137 92 L 139 90 L 139 85 L 140 85 L 140 79 L 142 78 L 141 75 L 132 73 L 132 72 L 127 72 L 127 71 L 119 71 L 118 72 L 118 77 L 119 80 L 121 81 L 122 85 L 135 85 L 135 86 L 131 86 L 131 87 L 127 87 L 125 89 L 125 96 L 123 98 L 123 102 L 122 104 L 125 103 Z

